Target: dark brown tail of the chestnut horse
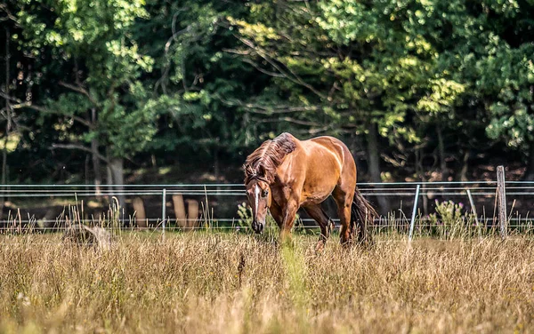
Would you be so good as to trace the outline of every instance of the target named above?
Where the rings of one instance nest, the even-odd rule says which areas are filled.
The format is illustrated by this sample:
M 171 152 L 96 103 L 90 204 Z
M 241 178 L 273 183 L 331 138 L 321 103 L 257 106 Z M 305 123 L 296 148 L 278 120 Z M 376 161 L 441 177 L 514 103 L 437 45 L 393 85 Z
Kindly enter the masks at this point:
M 354 228 L 358 228 L 359 243 L 373 243 L 373 237 L 368 233 L 368 226 L 373 224 L 376 217 L 378 217 L 378 213 L 376 213 L 375 208 L 373 208 L 371 203 L 368 203 L 368 200 L 363 198 L 360 190 L 356 188 L 351 208 L 351 227 L 352 232 Z

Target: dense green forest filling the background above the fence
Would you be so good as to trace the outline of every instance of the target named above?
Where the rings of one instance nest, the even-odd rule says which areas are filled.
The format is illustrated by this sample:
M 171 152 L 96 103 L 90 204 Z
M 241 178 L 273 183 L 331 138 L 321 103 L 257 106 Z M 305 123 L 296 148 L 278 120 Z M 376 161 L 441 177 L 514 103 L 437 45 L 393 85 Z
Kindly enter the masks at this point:
M 283 131 L 361 180 L 534 179 L 532 0 L 3 0 L 0 27 L 2 184 L 241 182 Z

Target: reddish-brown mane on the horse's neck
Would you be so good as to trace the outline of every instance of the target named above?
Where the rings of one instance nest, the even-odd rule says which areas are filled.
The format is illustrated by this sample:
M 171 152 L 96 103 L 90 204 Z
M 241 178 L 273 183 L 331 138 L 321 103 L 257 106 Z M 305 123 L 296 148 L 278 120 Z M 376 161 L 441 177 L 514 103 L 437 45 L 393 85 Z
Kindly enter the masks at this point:
M 282 133 L 272 140 L 265 140 L 262 146 L 248 155 L 247 161 L 243 165 L 245 184 L 254 178 L 265 179 L 269 183 L 273 182 L 277 167 L 286 155 L 295 150 L 295 147 L 295 141 L 288 133 Z

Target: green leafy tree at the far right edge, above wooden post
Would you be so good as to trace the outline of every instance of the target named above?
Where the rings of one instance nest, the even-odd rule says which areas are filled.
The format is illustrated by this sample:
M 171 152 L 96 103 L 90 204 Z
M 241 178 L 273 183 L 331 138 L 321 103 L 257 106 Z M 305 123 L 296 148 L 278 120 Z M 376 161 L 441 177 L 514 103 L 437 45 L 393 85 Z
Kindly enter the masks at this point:
M 447 34 L 441 36 L 441 69 L 465 87 L 455 108 L 462 110 L 462 126 L 455 133 L 463 133 L 464 142 L 481 139 L 474 141 L 479 150 L 488 142 L 505 142 L 528 152 L 522 154 L 529 156 L 526 179 L 534 179 L 532 10 L 523 1 L 449 2 L 436 13 L 447 18 L 441 19 Z M 492 140 L 476 135 L 481 126 Z

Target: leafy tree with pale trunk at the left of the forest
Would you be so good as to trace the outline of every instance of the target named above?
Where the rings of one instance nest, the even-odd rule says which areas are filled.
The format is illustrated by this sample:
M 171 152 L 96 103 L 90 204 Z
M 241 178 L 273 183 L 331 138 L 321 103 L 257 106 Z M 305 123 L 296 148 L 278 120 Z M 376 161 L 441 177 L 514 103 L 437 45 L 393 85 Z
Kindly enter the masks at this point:
M 155 114 L 146 107 L 146 88 L 139 80 L 153 60 L 142 55 L 132 39 L 136 19 L 146 19 L 143 1 L 57 0 L 49 4 L 23 1 L 17 20 L 24 47 L 36 58 L 53 55 L 51 64 L 36 62 L 43 75 L 57 77 L 57 86 L 44 90 L 40 106 L 21 101 L 42 117 L 60 117 L 66 129 L 56 148 L 74 148 L 93 155 L 95 182 L 100 162 L 109 169 L 109 182 L 120 191 L 123 159 L 142 151 L 153 137 Z M 121 198 L 121 204 L 124 200 Z

